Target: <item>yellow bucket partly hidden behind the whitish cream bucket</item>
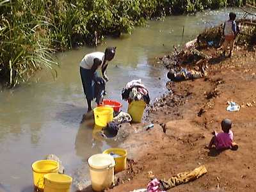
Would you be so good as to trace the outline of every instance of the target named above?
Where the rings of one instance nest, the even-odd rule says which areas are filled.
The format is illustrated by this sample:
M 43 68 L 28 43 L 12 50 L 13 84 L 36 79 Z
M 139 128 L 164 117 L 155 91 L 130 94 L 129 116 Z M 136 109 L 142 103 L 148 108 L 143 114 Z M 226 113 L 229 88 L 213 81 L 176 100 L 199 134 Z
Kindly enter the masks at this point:
M 127 160 L 127 150 L 123 148 L 109 148 L 107 150 L 104 150 L 103 154 L 116 154 L 119 157 L 114 157 L 115 159 L 115 173 L 122 172 L 122 170 L 125 170 L 126 168 L 126 160 Z

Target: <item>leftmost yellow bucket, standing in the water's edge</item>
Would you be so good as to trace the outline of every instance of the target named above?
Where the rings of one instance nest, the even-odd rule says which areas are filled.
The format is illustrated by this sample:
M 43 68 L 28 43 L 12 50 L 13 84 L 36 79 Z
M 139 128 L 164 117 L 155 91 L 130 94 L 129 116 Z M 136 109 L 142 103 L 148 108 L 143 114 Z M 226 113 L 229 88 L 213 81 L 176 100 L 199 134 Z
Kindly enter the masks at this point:
M 59 163 L 52 160 L 35 161 L 32 164 L 33 180 L 36 191 L 44 190 L 44 175 L 47 173 L 58 173 Z

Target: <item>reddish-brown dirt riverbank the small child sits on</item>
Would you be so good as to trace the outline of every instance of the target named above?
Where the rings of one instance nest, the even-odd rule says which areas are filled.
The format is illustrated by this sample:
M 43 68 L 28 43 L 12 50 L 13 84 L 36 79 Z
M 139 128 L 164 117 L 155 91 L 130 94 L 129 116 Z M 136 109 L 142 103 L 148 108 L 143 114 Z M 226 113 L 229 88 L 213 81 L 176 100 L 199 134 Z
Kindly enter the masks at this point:
M 213 58 L 219 52 L 208 50 Z M 109 191 L 147 188 L 148 172 L 164 179 L 204 164 L 208 173 L 170 191 L 256 191 L 256 75 L 255 52 L 236 50 L 232 58 L 212 60 L 207 77 L 168 82 L 172 92 L 149 109 L 154 128 L 125 125 L 129 136 L 120 147 L 128 150 L 128 169 L 116 175 L 118 186 Z M 213 62 L 214 61 L 214 62 Z M 227 102 L 241 106 L 226 111 Z M 205 148 L 211 132 L 220 131 L 223 118 L 233 122 L 238 150 L 221 153 Z

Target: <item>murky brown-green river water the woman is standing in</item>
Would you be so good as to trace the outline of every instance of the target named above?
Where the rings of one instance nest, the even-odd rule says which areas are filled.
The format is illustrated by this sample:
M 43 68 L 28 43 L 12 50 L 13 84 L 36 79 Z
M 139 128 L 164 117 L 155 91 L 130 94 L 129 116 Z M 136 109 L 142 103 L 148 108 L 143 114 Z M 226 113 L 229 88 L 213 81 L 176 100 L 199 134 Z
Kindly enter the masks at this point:
M 146 28 L 136 28 L 131 36 L 109 38 L 97 48 L 83 47 L 57 54 L 61 63 L 58 77 L 41 72 L 38 83 L 0 93 L 0 191 L 33 191 L 31 163 L 47 154 L 56 154 L 66 173 L 88 179 L 86 159 L 92 154 L 116 146 L 114 141 L 93 135 L 92 122 L 80 124 L 86 111 L 79 77 L 79 61 L 84 54 L 117 47 L 116 57 L 108 68 L 110 81 L 107 97 L 121 100 L 121 90 L 128 81 L 142 79 L 153 100 L 164 92 L 166 71 L 152 64 L 150 58 L 172 50 L 172 46 L 195 38 L 205 27 L 219 24 L 230 10 L 198 13 L 194 16 L 167 17 L 150 21 Z M 123 110 L 127 109 L 124 104 Z M 77 176 L 79 175 L 79 176 Z M 74 191 L 74 189 L 72 189 Z

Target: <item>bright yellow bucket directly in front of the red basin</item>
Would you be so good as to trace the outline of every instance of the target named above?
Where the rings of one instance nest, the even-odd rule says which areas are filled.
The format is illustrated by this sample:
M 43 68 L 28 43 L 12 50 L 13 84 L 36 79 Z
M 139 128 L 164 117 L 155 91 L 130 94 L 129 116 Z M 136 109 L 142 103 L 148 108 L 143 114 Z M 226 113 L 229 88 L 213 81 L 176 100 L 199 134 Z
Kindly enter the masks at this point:
M 100 127 L 106 127 L 108 122 L 113 121 L 114 109 L 108 106 L 102 106 L 93 109 L 95 124 Z

